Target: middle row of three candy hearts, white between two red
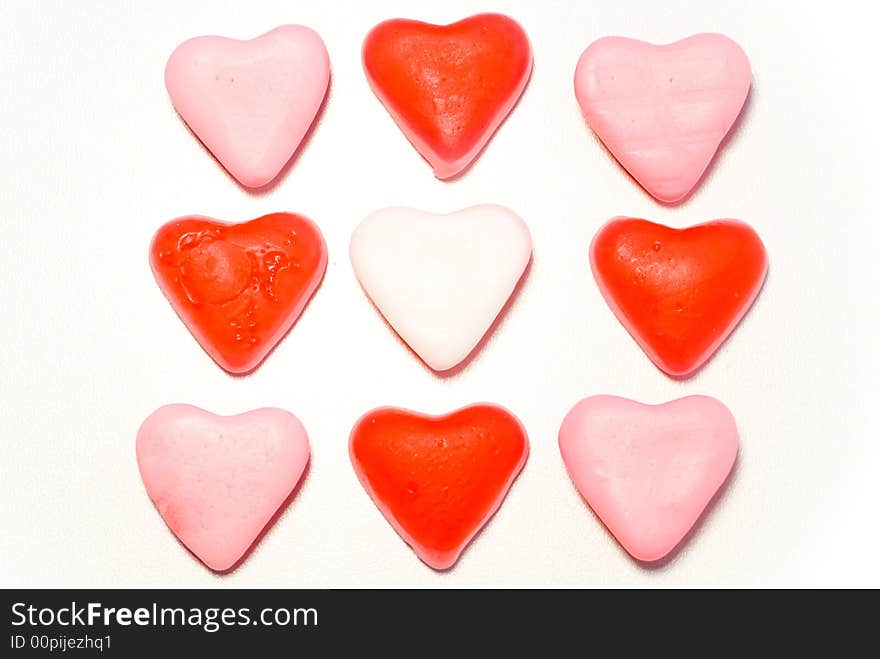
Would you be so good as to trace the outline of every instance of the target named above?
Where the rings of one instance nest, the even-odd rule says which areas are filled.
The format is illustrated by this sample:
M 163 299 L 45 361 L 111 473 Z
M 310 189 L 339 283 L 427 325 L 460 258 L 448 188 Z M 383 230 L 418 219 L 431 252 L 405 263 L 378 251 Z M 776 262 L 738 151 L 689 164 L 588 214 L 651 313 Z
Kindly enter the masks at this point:
M 364 291 L 432 369 L 472 354 L 531 262 L 525 222 L 501 206 L 433 215 L 387 208 L 354 231 L 350 256 Z M 184 324 L 224 369 L 268 355 L 319 286 L 321 232 L 275 213 L 225 224 L 184 217 L 156 233 L 150 262 Z M 672 229 L 615 218 L 590 248 L 602 295 L 650 359 L 676 377 L 705 363 L 758 295 L 767 255 L 735 220 Z

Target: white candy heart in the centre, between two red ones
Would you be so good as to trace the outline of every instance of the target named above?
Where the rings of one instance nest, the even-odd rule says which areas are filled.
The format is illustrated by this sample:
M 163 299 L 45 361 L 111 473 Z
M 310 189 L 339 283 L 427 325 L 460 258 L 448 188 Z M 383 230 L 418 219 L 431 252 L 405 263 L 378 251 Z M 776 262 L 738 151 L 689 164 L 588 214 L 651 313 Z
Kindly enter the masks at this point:
M 476 347 L 531 253 L 525 222 L 491 205 L 449 215 L 386 208 L 351 238 L 351 263 L 367 295 L 436 371 L 456 366 Z

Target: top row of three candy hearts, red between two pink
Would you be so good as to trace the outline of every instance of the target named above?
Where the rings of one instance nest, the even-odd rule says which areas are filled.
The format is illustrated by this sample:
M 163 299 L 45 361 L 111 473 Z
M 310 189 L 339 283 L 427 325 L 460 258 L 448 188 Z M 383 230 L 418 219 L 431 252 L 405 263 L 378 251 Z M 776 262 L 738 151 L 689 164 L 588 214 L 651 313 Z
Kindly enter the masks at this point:
M 532 50 L 507 16 L 450 25 L 394 19 L 363 46 L 369 84 L 409 141 L 448 179 L 463 171 L 526 87 Z M 250 41 L 197 37 L 165 69 L 171 101 L 242 185 L 261 187 L 293 157 L 330 82 L 324 42 L 286 25 Z M 664 202 L 686 197 L 733 126 L 751 85 L 743 50 L 720 34 L 655 46 L 606 37 L 581 55 L 575 95 L 620 164 Z

